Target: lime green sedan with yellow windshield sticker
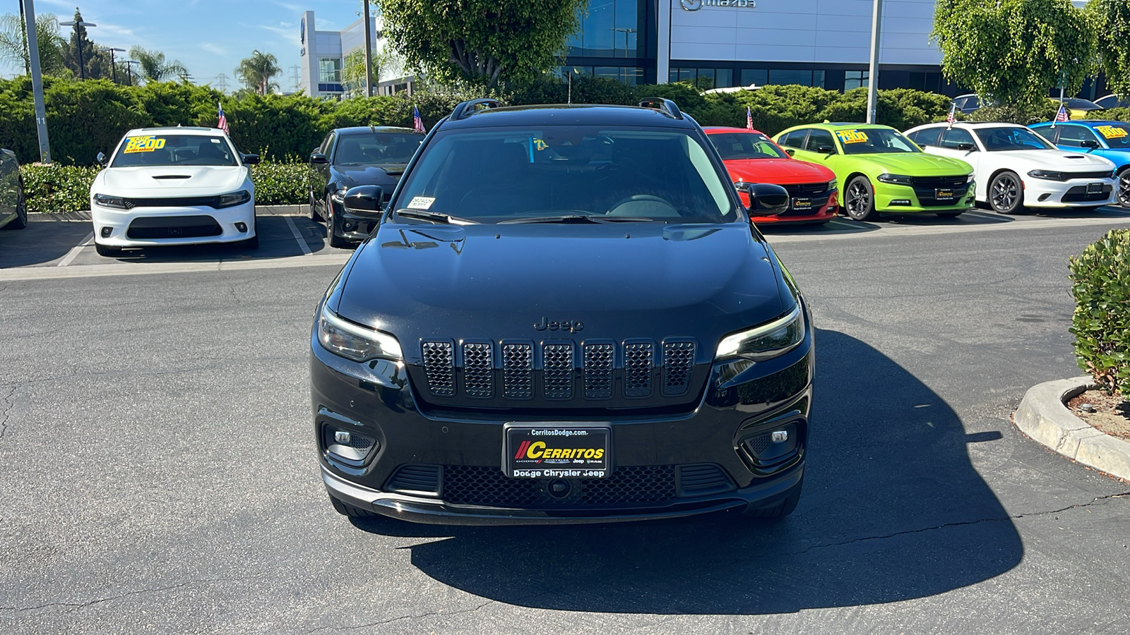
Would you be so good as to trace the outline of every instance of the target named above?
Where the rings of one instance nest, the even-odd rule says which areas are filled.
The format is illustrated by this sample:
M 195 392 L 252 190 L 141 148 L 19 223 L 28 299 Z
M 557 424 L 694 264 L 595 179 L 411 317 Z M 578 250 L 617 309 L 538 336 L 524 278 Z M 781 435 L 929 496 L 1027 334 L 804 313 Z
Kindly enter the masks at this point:
M 796 158 L 835 172 L 840 207 L 855 220 L 875 220 L 879 212 L 954 217 L 974 205 L 970 164 L 928 155 L 888 125 L 797 125 L 776 142 Z

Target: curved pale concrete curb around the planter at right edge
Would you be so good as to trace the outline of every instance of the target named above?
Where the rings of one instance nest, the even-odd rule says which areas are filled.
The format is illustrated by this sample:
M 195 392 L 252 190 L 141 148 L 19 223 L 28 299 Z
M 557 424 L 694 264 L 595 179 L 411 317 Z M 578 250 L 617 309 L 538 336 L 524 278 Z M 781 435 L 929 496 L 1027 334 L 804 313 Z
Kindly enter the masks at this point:
M 1036 384 L 1024 394 L 1012 420 L 1020 432 L 1055 452 L 1130 480 L 1130 442 L 1103 434 L 1064 406 L 1094 386 L 1089 376 Z

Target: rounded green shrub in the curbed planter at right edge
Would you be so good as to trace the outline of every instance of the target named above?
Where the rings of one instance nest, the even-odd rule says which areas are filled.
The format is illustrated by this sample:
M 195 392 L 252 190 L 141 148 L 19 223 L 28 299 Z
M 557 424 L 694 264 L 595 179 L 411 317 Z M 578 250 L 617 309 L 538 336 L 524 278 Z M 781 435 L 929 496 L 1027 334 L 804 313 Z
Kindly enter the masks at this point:
M 1130 229 L 1111 229 L 1070 259 L 1079 367 L 1109 393 L 1130 393 Z

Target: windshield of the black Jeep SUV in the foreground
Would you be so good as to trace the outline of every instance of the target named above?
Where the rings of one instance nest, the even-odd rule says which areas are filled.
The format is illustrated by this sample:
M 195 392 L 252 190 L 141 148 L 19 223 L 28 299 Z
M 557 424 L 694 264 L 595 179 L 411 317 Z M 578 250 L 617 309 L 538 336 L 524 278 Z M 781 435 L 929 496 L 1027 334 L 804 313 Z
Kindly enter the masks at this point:
M 738 217 L 721 166 L 698 140 L 678 130 L 454 130 L 437 133 L 424 153 L 401 188 L 398 209 L 476 223 L 565 221 L 560 217 L 727 223 Z

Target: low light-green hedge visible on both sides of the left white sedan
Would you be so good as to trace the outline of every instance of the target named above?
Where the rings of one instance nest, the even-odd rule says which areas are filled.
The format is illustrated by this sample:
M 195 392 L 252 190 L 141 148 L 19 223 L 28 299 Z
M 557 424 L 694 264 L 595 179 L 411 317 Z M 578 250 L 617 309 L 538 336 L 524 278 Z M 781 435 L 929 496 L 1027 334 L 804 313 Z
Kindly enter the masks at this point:
M 90 209 L 90 184 L 97 166 L 28 164 L 19 167 L 31 212 Z M 266 162 L 252 166 L 257 205 L 301 205 L 310 200 L 310 166 Z

